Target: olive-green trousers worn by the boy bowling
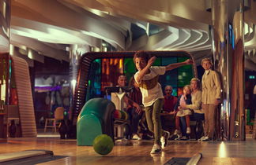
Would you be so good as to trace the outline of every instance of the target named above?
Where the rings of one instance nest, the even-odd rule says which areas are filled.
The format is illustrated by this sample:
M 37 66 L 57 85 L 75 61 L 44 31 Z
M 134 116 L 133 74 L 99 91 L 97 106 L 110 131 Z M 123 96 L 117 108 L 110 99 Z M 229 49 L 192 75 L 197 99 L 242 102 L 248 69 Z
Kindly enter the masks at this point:
M 147 119 L 149 130 L 154 133 L 155 144 L 160 145 L 162 135 L 162 126 L 160 119 L 160 111 L 164 105 L 164 98 L 157 99 L 151 106 L 145 107 L 145 116 Z

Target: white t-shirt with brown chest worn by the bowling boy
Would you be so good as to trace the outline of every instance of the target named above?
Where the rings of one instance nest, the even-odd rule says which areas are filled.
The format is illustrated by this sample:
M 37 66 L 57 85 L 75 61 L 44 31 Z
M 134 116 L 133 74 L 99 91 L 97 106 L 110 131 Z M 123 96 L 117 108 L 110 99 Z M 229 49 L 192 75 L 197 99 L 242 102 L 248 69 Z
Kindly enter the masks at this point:
M 136 83 L 138 83 L 140 86 L 142 94 L 142 104 L 145 107 L 149 107 L 159 98 L 164 98 L 161 85 L 160 83 L 158 83 L 158 76 L 164 75 L 165 70 L 165 67 L 149 68 L 149 74 L 144 75 L 140 83 L 138 83 L 136 80 L 139 72 L 135 73 L 134 78 Z

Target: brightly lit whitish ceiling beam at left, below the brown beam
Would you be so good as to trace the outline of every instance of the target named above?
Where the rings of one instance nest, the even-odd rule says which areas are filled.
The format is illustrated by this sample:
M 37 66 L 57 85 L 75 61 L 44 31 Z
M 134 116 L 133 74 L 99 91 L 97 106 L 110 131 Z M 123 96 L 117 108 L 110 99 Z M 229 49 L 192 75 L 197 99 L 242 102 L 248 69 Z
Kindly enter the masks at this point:
M 16 35 L 36 38 L 42 42 L 60 44 L 86 44 L 90 46 L 100 46 L 100 39 L 88 35 L 81 35 L 77 31 L 72 31 L 50 24 L 43 24 L 33 20 L 12 17 L 12 32 Z

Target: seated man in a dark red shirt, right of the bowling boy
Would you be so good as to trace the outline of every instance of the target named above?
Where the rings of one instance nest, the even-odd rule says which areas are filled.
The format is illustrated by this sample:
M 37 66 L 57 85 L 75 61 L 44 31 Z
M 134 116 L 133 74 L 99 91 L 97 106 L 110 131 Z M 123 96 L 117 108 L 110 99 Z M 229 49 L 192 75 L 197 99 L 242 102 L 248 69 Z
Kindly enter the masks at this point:
M 164 107 L 161 113 L 161 123 L 164 130 L 173 132 L 175 127 L 175 105 L 177 104 L 178 98 L 172 96 L 172 87 L 165 86 L 164 88 Z

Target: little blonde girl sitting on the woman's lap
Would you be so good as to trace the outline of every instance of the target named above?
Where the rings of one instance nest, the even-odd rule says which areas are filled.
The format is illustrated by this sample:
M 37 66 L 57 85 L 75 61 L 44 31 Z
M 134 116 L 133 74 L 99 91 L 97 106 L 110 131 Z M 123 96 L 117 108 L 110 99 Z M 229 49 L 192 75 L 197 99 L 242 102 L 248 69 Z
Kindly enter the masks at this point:
M 191 102 L 191 88 L 189 85 L 186 85 L 183 87 L 183 94 L 179 96 L 178 102 L 175 106 L 175 110 L 176 110 L 176 117 L 175 117 L 175 135 L 176 134 L 180 134 L 180 125 L 179 125 L 179 119 L 180 117 L 185 116 L 186 118 L 186 134 L 190 134 L 191 130 L 190 130 L 190 115 L 192 114 L 192 112 L 190 111 L 189 108 L 183 108 L 180 105 L 183 105 L 184 103 L 186 105 L 190 105 L 192 104 Z M 183 134 L 184 136 L 184 134 Z M 186 136 L 184 136 L 185 138 Z

